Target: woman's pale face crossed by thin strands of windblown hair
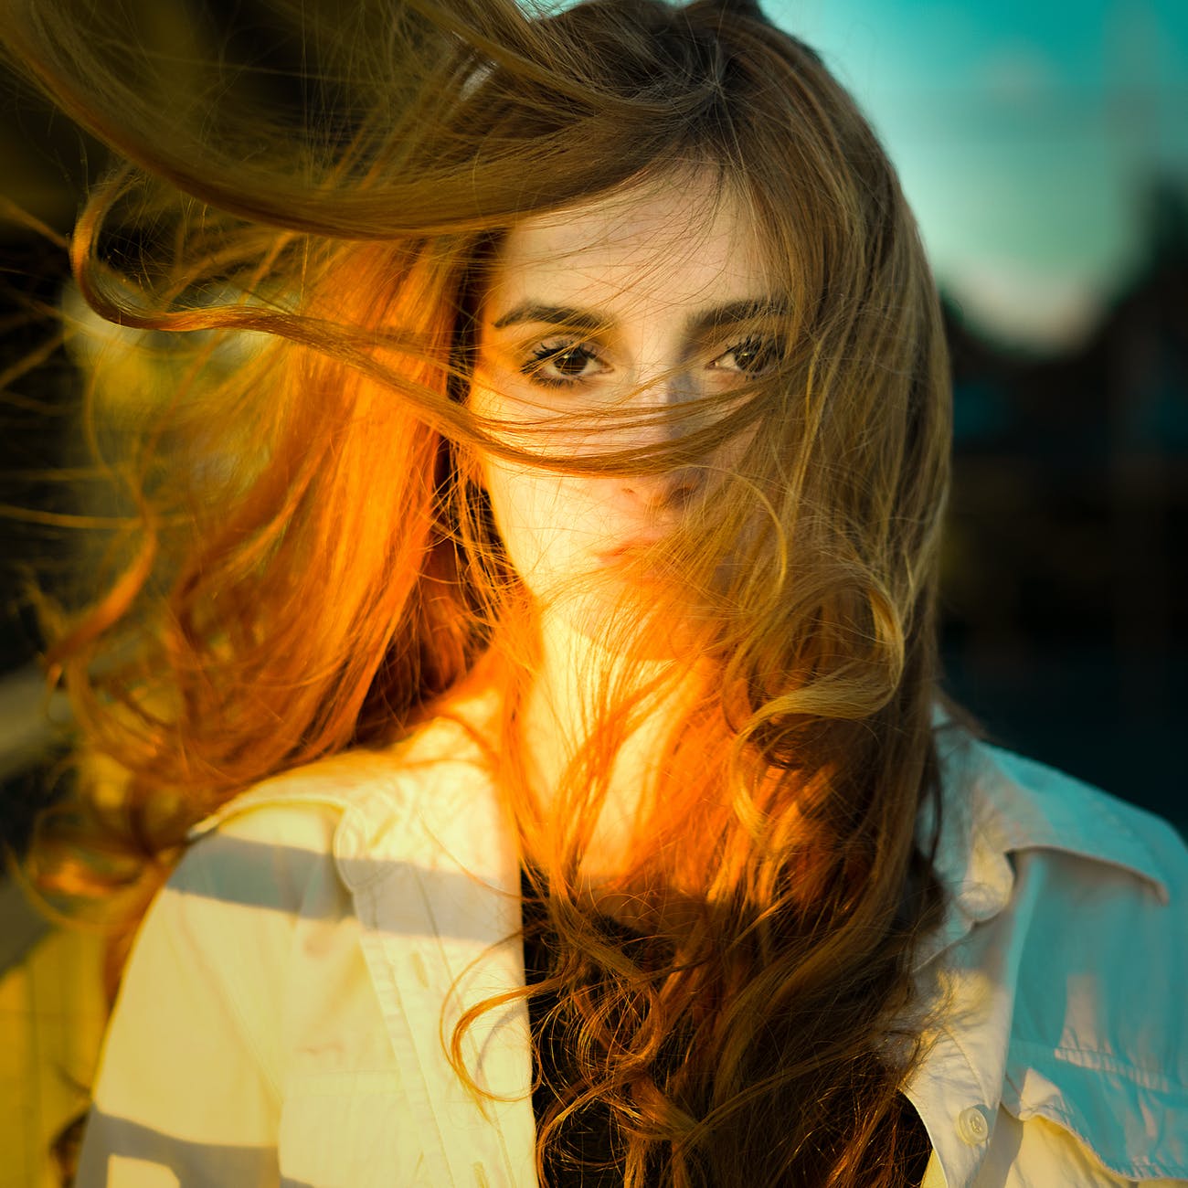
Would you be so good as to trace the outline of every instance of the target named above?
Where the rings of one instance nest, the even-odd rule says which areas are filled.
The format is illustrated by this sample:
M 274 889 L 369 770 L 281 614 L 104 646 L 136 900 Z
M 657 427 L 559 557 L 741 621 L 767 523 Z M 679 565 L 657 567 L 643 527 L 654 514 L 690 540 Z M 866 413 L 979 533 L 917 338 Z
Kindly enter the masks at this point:
M 689 423 L 626 428 L 608 413 L 728 392 L 771 361 L 778 310 L 744 208 L 718 200 L 708 172 L 526 219 L 493 261 L 470 406 L 549 456 L 655 444 Z M 560 474 L 488 455 L 481 474 L 529 590 L 596 630 L 624 558 L 670 533 L 741 448 L 661 474 Z

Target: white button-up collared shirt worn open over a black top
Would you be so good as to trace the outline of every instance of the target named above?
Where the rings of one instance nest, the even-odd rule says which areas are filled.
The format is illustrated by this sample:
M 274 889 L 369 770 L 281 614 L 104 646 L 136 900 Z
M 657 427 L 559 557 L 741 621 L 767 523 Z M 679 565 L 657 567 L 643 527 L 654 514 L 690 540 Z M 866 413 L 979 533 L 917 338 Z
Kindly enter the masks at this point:
M 949 742 L 943 739 L 948 734 Z M 1188 1183 L 1188 852 L 1164 822 L 942 732 L 947 991 L 904 1092 L 925 1188 Z M 196 830 L 137 939 L 80 1188 L 532 1188 L 514 829 L 438 720 Z M 453 987 L 453 988 L 451 988 Z

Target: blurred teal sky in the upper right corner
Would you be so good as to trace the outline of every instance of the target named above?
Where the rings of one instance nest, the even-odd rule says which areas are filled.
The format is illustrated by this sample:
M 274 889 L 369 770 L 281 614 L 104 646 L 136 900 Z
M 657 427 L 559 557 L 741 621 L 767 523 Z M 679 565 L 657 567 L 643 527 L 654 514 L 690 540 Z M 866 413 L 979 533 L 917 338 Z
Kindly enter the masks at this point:
M 934 267 L 998 336 L 1070 343 L 1188 183 L 1188 0 L 765 0 L 862 105 Z

